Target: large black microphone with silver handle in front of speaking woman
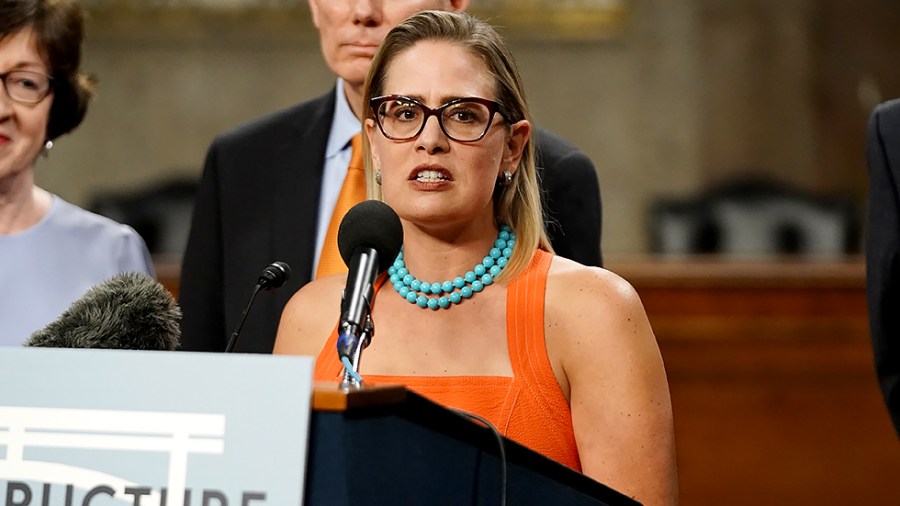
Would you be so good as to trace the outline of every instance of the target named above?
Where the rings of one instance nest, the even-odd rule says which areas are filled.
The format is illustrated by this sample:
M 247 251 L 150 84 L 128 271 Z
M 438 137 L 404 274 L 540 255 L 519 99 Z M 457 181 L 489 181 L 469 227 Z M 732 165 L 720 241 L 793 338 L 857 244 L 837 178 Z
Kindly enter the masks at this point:
M 391 266 L 402 244 L 400 218 L 384 202 L 360 202 L 341 220 L 338 250 L 349 272 L 341 298 L 337 347 L 345 367 L 346 361 L 351 365 L 351 369 L 345 371 L 345 383 L 349 383 L 356 373 L 362 349 L 368 346 L 375 331 L 369 318 L 375 278 Z M 354 383 L 358 382 L 357 376 Z

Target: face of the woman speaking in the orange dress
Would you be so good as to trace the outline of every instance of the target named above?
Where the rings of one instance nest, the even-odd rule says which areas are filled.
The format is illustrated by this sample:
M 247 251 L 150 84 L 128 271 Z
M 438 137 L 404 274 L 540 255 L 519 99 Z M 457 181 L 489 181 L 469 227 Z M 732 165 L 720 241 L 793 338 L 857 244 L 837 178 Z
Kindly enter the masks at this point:
M 436 109 L 457 98 L 497 100 L 494 79 L 468 50 L 445 41 L 423 41 L 397 55 L 385 73 L 384 95 L 403 95 Z M 494 115 L 484 137 L 450 139 L 436 116 L 415 138 L 386 138 L 374 120 L 366 121 L 375 169 L 381 170 L 384 201 L 404 220 L 425 226 L 493 218 L 497 178 L 515 172 L 529 125 L 512 127 Z

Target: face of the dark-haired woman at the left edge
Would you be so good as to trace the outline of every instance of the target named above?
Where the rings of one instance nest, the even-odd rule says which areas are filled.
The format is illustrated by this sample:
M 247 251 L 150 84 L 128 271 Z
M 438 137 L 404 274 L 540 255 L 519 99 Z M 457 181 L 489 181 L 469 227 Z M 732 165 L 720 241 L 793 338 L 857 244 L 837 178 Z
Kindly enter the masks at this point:
M 0 40 L 0 74 L 27 70 L 47 75 L 36 41 L 31 28 Z M 46 141 L 52 103 L 52 93 L 37 104 L 23 104 L 0 91 L 0 180 L 32 169 Z

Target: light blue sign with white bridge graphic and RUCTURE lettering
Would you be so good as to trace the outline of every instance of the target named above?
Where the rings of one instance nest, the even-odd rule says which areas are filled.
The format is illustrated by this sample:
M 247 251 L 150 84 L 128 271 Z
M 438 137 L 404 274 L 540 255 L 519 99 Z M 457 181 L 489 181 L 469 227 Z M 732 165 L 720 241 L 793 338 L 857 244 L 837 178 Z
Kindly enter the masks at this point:
M 0 501 L 302 504 L 312 363 L 0 348 Z

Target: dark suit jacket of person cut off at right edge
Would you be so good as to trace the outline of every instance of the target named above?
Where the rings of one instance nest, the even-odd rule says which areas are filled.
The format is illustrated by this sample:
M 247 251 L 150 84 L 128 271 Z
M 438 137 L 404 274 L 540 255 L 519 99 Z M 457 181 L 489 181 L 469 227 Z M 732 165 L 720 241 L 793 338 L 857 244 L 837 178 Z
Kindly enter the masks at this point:
M 875 369 L 900 434 L 900 99 L 869 116 L 866 292 Z

